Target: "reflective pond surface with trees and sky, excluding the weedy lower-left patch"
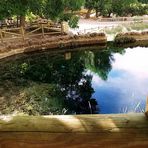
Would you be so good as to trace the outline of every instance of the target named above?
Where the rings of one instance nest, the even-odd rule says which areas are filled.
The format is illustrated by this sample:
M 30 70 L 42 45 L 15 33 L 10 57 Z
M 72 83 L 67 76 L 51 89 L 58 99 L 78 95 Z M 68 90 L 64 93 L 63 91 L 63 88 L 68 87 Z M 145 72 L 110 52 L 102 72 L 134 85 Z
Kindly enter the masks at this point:
M 0 62 L 0 91 L 6 81 L 54 86 L 54 97 L 66 100 L 69 113 L 142 112 L 148 95 L 148 48 L 27 55 Z

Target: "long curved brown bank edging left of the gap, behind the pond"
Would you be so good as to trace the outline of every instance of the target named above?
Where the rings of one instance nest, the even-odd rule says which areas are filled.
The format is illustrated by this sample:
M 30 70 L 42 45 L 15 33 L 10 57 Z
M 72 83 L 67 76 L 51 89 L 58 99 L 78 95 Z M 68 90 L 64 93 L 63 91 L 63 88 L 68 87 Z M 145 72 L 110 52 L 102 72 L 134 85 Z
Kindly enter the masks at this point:
M 76 48 L 88 45 L 105 45 L 107 37 L 104 33 L 92 33 L 86 35 L 63 35 L 48 38 L 28 39 L 22 42 L 2 43 L 0 46 L 0 59 L 4 59 L 21 53 L 46 51 L 52 49 Z

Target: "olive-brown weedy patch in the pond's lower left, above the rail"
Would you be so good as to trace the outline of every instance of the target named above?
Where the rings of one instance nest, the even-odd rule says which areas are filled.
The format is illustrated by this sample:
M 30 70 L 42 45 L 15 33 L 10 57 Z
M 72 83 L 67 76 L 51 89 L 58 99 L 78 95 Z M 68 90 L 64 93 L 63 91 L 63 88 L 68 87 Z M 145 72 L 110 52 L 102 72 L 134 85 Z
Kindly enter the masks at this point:
M 1 114 L 57 115 L 66 110 L 59 89 L 52 84 L 30 82 L 27 86 L 16 86 L 9 82 L 9 87 L 0 92 Z

